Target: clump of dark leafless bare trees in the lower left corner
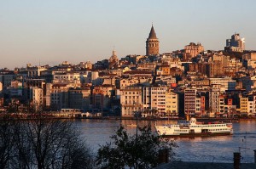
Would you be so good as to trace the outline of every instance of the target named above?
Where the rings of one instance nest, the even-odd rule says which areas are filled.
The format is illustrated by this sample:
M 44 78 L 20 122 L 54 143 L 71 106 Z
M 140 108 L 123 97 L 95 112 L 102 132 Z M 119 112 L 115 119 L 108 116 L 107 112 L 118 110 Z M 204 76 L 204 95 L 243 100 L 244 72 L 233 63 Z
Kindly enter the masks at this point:
M 1 169 L 93 168 L 92 151 L 72 121 L 34 117 L 0 120 Z

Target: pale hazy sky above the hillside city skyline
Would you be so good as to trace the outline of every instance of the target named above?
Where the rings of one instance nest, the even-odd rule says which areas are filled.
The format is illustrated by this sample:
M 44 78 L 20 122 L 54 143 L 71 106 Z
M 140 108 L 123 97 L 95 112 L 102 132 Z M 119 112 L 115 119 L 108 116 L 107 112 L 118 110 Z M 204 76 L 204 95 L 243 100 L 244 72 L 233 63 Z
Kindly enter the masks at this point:
M 0 0 L 0 68 L 145 54 L 154 23 L 160 53 L 201 42 L 224 49 L 235 32 L 256 49 L 255 0 Z

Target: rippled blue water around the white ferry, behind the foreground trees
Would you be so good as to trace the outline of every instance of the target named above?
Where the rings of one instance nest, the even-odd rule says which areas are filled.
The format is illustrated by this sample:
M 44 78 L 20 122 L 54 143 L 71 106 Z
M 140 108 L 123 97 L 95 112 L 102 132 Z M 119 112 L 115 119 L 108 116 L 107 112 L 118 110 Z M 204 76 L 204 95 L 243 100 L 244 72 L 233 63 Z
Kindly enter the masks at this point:
M 96 152 L 100 145 L 111 141 L 115 131 L 122 124 L 136 124 L 133 120 L 75 120 L 77 127 L 82 130 L 87 144 Z M 158 121 L 165 123 L 166 121 Z M 151 124 L 155 121 L 138 121 L 138 126 Z M 126 127 L 131 134 L 136 133 L 136 127 Z M 256 149 L 256 121 L 241 121 L 233 123 L 234 134 L 211 138 L 177 138 L 178 148 L 174 149 L 181 161 L 200 162 L 233 162 L 233 153 L 241 152 L 241 162 L 254 161 L 253 149 Z

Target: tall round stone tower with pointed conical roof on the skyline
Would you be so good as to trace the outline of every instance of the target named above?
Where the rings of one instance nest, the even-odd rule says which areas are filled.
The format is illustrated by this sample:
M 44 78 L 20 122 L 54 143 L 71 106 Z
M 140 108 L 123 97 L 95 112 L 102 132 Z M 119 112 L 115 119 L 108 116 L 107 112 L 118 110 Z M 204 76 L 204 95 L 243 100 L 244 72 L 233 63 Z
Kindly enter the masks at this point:
M 146 41 L 146 55 L 156 55 L 159 54 L 159 41 L 154 32 L 154 27 L 152 25 L 151 31 L 149 33 L 148 39 Z

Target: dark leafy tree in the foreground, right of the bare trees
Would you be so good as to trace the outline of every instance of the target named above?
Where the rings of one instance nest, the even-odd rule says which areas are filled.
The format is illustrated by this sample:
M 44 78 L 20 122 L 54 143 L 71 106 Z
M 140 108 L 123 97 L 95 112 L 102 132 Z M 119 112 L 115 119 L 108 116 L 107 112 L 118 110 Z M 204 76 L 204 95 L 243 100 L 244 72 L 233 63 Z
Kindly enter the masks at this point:
M 96 165 L 102 169 L 139 168 L 146 169 L 157 166 L 160 149 L 168 149 L 173 159 L 173 140 L 154 135 L 150 126 L 138 127 L 139 134 L 129 136 L 125 127 L 120 126 L 107 143 L 97 152 Z

